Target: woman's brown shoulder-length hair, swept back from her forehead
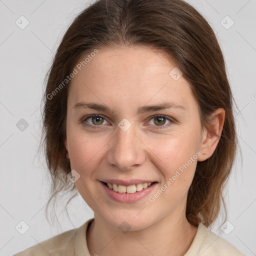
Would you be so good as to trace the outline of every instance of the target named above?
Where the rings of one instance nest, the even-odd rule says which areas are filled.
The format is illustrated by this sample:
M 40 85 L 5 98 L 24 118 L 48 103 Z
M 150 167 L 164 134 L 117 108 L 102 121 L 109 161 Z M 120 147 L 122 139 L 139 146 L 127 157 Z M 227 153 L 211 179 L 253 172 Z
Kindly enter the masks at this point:
M 64 139 L 70 81 L 65 79 L 81 56 L 95 48 L 113 46 L 149 46 L 174 59 L 190 83 L 202 126 L 209 125 L 207 117 L 216 108 L 224 108 L 218 144 L 209 158 L 197 162 L 187 195 L 189 223 L 209 226 L 216 220 L 221 203 L 226 214 L 223 188 L 237 145 L 234 100 L 213 29 L 183 0 L 97 0 L 82 10 L 66 30 L 46 74 L 43 95 L 42 146 L 52 180 L 47 207 L 61 191 L 77 194 L 74 183 L 67 178 L 71 168 Z M 66 84 L 60 86 L 64 80 Z

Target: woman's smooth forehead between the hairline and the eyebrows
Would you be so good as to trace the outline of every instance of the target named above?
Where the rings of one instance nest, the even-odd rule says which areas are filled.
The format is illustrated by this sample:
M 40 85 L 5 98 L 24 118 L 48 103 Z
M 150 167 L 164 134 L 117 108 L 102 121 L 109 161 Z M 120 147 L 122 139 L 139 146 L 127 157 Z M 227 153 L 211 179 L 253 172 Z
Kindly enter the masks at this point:
M 82 61 L 86 57 L 85 64 Z M 79 63 L 84 66 L 76 68 L 78 72 L 69 85 L 72 105 L 93 98 L 110 105 L 170 100 L 185 106 L 193 97 L 189 82 L 182 75 L 177 80 L 170 75 L 171 70 L 176 70 L 176 63 L 162 50 L 147 46 L 98 48 L 96 54 L 81 56 Z

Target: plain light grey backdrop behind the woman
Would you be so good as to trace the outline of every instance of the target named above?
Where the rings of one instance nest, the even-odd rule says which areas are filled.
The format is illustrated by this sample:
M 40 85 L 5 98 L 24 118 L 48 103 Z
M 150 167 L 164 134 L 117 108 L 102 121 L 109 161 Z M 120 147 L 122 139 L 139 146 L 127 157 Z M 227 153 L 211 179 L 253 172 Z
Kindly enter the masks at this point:
M 238 107 L 235 118 L 241 155 L 237 154 L 225 189 L 229 222 L 223 228 L 219 218 L 211 230 L 244 254 L 256 255 L 256 1 L 187 2 L 217 34 Z M 60 203 L 60 226 L 47 222 L 49 180 L 45 159 L 37 153 L 44 76 L 63 33 L 88 3 L 0 0 L 0 255 L 12 255 L 93 217 L 78 195 L 68 206 L 70 219 Z M 28 230 L 21 234 L 18 226 Z

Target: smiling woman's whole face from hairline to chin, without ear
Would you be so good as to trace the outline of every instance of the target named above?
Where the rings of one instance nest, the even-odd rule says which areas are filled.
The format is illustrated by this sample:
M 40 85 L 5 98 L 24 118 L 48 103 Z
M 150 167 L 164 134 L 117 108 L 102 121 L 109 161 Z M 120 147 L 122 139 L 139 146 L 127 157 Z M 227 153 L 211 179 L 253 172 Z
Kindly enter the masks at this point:
M 175 66 L 149 47 L 99 48 L 69 84 L 65 146 L 75 186 L 113 228 L 185 218 L 203 133 L 188 81 L 169 74 Z

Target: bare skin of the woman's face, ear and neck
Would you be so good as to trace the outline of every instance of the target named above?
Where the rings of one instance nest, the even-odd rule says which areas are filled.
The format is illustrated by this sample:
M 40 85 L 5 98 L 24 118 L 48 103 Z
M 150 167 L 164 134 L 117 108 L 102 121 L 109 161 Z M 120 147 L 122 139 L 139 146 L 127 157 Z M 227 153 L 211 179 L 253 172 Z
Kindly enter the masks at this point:
M 71 80 L 65 139 L 71 169 L 80 175 L 75 186 L 94 211 L 94 221 L 86 233 L 89 252 L 99 256 L 183 255 L 197 231 L 185 217 L 196 160 L 154 202 L 148 196 L 196 151 L 201 152 L 198 161 L 212 155 L 219 139 L 213 132 L 221 134 L 224 109 L 212 113 L 211 129 L 202 127 L 189 82 L 183 76 L 174 80 L 169 75 L 176 66 L 169 56 L 147 46 L 98 49 Z M 111 112 L 72 108 L 79 101 L 104 104 Z M 140 106 L 163 101 L 185 109 L 136 114 Z M 104 119 L 80 121 L 90 114 L 100 114 Z M 162 123 L 151 117 L 159 114 L 166 116 Z M 118 127 L 123 118 L 131 123 L 127 131 Z M 158 183 L 148 196 L 122 203 L 105 193 L 99 180 L 106 178 Z M 118 228 L 123 221 L 130 227 L 126 233 Z

